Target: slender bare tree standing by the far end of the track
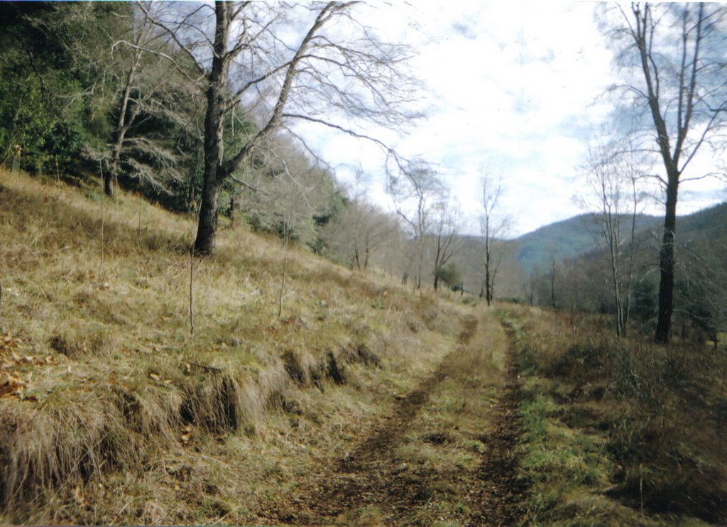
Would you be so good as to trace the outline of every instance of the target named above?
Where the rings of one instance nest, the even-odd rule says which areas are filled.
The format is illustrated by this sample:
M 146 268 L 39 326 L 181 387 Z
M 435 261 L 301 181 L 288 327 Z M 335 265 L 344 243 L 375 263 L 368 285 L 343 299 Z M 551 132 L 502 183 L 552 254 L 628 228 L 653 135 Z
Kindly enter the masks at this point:
M 483 250 L 483 283 L 480 297 L 484 295 L 487 305 L 492 305 L 494 297 L 495 278 L 497 270 L 502 261 L 502 249 L 498 248 L 505 230 L 507 220 L 498 217 L 497 207 L 502 194 L 502 185 L 499 180 L 493 181 L 491 176 L 485 175 L 481 178 L 482 185 L 482 216 L 481 231 L 484 241 Z

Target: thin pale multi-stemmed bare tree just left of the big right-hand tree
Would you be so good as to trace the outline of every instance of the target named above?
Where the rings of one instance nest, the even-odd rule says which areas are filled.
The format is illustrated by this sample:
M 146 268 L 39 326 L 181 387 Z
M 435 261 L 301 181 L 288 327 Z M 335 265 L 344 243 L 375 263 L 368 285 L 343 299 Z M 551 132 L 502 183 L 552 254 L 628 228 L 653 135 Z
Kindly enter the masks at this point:
M 601 231 L 608 255 L 616 309 L 616 336 L 626 332 L 635 275 L 636 220 L 643 174 L 632 158 L 606 147 L 591 150 L 587 164 L 591 196 L 581 199 Z M 623 225 L 623 222 L 626 225 Z M 598 238 L 597 238 L 598 242 Z

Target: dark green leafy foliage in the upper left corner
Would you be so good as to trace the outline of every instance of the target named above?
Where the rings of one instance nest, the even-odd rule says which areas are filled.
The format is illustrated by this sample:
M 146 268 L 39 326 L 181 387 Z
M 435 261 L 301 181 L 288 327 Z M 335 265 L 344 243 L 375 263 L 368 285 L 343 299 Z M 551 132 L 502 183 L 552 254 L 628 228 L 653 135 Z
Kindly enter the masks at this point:
M 0 148 L 6 163 L 23 149 L 20 167 L 33 174 L 78 172 L 89 99 L 83 75 L 65 46 L 79 25 L 65 24 L 63 5 L 4 5 L 7 32 L 0 39 Z

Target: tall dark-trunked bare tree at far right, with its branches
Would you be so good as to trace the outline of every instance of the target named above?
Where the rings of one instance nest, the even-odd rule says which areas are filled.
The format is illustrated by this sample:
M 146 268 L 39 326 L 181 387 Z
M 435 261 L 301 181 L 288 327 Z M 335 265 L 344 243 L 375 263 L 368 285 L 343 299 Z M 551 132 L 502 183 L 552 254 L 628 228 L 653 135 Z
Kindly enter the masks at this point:
M 659 252 L 659 316 L 654 339 L 670 340 L 674 310 L 675 232 L 678 189 L 696 154 L 725 124 L 723 17 L 719 4 L 631 4 L 619 7 L 614 41 L 619 60 L 640 81 L 627 79 L 622 93 L 635 108 L 648 108 L 654 140 L 666 172 L 659 177 L 666 199 Z M 642 113 L 641 111 L 638 112 Z M 645 139 L 643 130 L 638 138 Z M 655 133 L 655 134 L 654 134 Z M 696 177 L 705 177 L 699 174 Z

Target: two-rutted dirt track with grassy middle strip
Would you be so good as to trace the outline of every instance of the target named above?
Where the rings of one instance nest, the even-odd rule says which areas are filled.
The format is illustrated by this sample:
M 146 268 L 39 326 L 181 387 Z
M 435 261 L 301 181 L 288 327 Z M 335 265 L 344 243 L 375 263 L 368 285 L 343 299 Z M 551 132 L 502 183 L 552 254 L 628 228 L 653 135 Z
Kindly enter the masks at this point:
M 486 311 L 465 319 L 438 368 L 350 453 L 314 475 L 285 510 L 288 524 L 511 525 L 523 488 L 514 478 L 518 385 L 508 339 Z

